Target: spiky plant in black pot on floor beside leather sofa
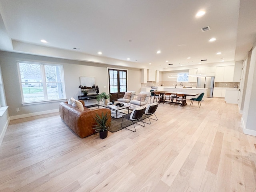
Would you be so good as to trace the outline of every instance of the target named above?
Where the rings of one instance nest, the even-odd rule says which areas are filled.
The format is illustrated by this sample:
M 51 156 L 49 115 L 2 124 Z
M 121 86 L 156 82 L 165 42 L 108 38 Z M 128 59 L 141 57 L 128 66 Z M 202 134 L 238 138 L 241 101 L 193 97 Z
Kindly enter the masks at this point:
M 111 122 L 108 122 L 108 119 L 110 118 L 110 114 L 103 114 L 102 112 L 102 116 L 99 116 L 98 114 L 96 114 L 96 116 L 94 117 L 95 121 L 96 121 L 96 125 L 94 125 L 95 127 L 93 129 L 95 129 L 95 132 L 99 132 L 100 133 L 100 138 L 104 139 L 108 136 L 108 128 L 110 127 Z

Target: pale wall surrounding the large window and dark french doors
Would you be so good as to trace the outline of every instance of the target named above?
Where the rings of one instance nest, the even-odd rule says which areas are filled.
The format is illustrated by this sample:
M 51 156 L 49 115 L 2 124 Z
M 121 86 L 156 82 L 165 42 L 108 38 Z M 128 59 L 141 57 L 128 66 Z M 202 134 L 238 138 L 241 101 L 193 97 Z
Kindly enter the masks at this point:
M 46 104 L 23 106 L 18 80 L 17 61 L 62 64 L 64 67 L 66 98 L 70 98 L 72 96 L 76 99 L 78 99 L 78 95 L 80 94 L 80 88 L 78 88 L 78 86 L 80 85 L 80 76 L 95 77 L 95 82 L 99 86 L 100 92 L 108 92 L 107 67 L 116 68 L 116 66 L 98 63 L 65 60 L 11 52 L 0 52 L 0 64 L 2 67 L 6 102 L 9 106 L 8 109 L 10 116 L 20 116 L 30 113 L 40 114 L 40 112 L 43 111 L 58 110 L 60 103 L 51 102 Z M 128 90 L 135 90 L 137 93 L 140 92 L 140 69 L 125 67 L 122 67 L 122 69 L 128 70 Z M 106 86 L 106 88 L 104 88 L 104 86 Z M 16 112 L 16 108 L 20 108 L 20 112 Z

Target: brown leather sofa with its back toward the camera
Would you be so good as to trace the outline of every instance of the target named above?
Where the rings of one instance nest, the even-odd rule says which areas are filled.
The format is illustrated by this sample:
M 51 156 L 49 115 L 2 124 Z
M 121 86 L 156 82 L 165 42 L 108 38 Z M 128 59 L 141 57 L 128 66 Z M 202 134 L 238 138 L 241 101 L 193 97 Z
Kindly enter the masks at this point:
M 82 102 L 84 106 L 84 101 L 79 100 Z M 60 103 L 60 117 L 67 126 L 72 129 L 80 138 L 84 138 L 94 134 L 94 125 L 96 124 L 94 117 L 96 114 L 102 116 L 103 114 L 111 115 L 110 109 L 107 108 L 97 108 L 97 109 L 88 109 L 84 106 L 84 111 L 73 107 L 72 105 L 68 104 L 68 102 Z M 111 118 L 108 119 L 111 122 Z

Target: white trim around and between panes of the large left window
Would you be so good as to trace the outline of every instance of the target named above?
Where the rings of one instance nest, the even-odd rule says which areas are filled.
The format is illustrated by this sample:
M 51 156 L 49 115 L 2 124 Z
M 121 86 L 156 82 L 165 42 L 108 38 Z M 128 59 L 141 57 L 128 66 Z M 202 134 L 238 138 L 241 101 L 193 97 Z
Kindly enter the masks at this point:
M 65 84 L 64 81 L 62 82 L 58 82 L 58 83 L 62 83 L 63 84 L 63 94 L 64 94 L 64 98 L 62 99 L 56 99 L 56 100 L 42 100 L 42 101 L 36 101 L 36 102 L 24 102 L 24 94 L 23 94 L 23 89 L 22 89 L 22 83 L 26 83 L 26 82 L 22 82 L 21 81 L 21 76 L 20 76 L 20 65 L 19 63 L 31 63 L 31 64 L 39 64 L 40 65 L 40 70 L 42 70 L 42 82 L 40 83 L 51 83 L 51 82 L 46 82 L 46 77 L 45 77 L 45 71 L 44 71 L 44 65 L 52 65 L 52 66 L 62 66 L 62 77 L 64 80 L 64 68 L 63 65 L 61 64 L 49 64 L 49 63 L 40 63 L 40 62 L 29 62 L 29 61 L 17 61 L 17 68 L 18 68 L 18 78 L 19 78 L 19 83 L 20 83 L 20 93 L 21 93 L 21 98 L 22 98 L 22 105 L 34 105 L 34 104 L 43 104 L 43 103 L 50 103 L 50 102 L 56 102 L 56 101 L 66 101 L 66 91 L 65 91 Z M 30 83 L 38 83 L 38 82 L 30 82 Z M 46 90 L 46 86 L 43 86 L 44 89 L 44 98 L 48 98 L 47 96 L 47 90 Z

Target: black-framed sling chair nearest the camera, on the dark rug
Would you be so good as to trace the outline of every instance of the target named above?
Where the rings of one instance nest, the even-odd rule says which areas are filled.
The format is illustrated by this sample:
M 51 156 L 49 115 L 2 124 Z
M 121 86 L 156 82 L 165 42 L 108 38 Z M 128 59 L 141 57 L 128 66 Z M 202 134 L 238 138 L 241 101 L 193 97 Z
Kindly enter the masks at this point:
M 143 120 L 142 120 L 142 116 L 143 116 L 145 110 L 146 110 L 146 107 L 139 107 L 139 108 L 135 108 L 135 109 L 132 111 L 132 113 L 127 114 L 127 115 L 123 115 L 123 116 L 122 116 L 123 119 L 122 119 L 121 127 L 128 129 L 127 127 L 123 127 L 123 126 L 122 126 L 124 118 L 127 119 L 127 120 L 132 121 L 133 126 L 134 126 L 134 123 L 136 123 L 136 124 L 138 124 L 138 125 L 144 127 L 145 124 L 144 124 L 144 122 L 143 122 Z M 143 125 L 138 123 L 140 120 L 142 121 Z M 128 129 L 128 130 L 130 130 L 130 129 Z M 134 131 L 134 130 L 135 130 L 135 131 Z M 134 130 L 130 130 L 130 131 L 136 132 L 135 126 L 134 126 Z

